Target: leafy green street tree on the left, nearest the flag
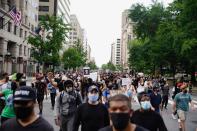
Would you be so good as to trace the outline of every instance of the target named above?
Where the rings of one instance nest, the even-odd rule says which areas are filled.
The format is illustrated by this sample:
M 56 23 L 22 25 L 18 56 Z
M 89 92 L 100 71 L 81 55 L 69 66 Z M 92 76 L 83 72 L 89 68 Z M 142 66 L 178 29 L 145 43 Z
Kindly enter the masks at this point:
M 29 36 L 28 43 L 32 45 L 32 57 L 43 63 L 44 67 L 48 65 L 59 65 L 59 51 L 62 49 L 65 39 L 68 37 L 70 26 L 63 22 L 62 17 L 44 16 L 40 23 L 40 29 L 44 29 L 46 37 L 41 35 Z M 38 30 L 39 32 L 40 30 Z

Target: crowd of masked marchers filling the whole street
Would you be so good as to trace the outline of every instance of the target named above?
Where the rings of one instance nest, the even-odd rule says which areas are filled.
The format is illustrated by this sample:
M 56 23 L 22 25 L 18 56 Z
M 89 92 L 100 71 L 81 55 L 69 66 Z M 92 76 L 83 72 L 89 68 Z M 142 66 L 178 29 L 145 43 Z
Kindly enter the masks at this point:
M 129 84 L 123 84 L 123 79 Z M 186 131 L 189 103 L 194 110 L 190 82 L 178 81 L 172 98 L 172 117 Z M 165 78 L 129 73 L 100 73 L 97 80 L 81 72 L 37 73 L 27 86 L 22 73 L 0 80 L 1 131 L 49 130 L 42 117 L 50 95 L 54 122 L 60 131 L 167 131 L 161 112 L 168 109 L 170 86 Z M 132 102 L 140 109 L 133 110 Z M 38 104 L 39 114 L 34 108 Z

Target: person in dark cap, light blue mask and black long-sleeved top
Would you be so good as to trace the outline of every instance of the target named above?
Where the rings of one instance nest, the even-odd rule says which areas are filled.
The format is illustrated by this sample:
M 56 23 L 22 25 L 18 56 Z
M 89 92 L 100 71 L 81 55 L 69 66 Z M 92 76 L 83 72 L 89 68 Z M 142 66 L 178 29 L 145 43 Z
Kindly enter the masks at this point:
M 81 124 L 81 131 L 98 131 L 100 128 L 109 125 L 107 108 L 99 103 L 99 89 L 96 85 L 88 88 L 88 102 L 81 104 L 75 114 L 74 130 L 78 131 Z

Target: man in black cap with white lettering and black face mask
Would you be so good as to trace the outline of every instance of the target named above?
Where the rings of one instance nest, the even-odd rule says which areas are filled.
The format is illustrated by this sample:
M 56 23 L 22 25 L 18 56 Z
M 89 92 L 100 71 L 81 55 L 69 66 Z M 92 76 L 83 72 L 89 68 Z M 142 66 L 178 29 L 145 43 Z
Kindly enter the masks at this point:
M 45 119 L 36 115 L 36 92 L 31 87 L 19 87 L 13 98 L 16 118 L 5 121 L 0 127 L 1 131 L 54 131 Z

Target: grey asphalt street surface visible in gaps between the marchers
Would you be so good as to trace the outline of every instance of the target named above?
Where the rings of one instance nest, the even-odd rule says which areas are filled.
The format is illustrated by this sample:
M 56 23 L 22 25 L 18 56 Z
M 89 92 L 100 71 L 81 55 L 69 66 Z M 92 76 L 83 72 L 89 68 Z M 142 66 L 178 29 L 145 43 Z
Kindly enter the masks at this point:
M 196 110 L 195 111 L 189 111 L 186 121 L 186 127 L 188 131 L 195 131 L 197 128 L 197 96 L 193 96 L 194 103 Z M 173 120 L 171 117 L 172 114 L 172 100 L 169 101 L 168 110 L 162 111 L 162 116 L 165 121 L 165 124 L 168 128 L 168 131 L 178 131 L 178 122 L 177 120 Z M 133 108 L 138 108 L 139 106 L 136 103 L 132 103 Z M 47 121 L 53 125 L 55 131 L 59 131 L 59 128 L 54 123 L 54 113 L 51 110 L 50 105 L 50 97 L 48 99 L 44 100 L 44 109 L 43 109 L 43 117 L 47 119 Z

